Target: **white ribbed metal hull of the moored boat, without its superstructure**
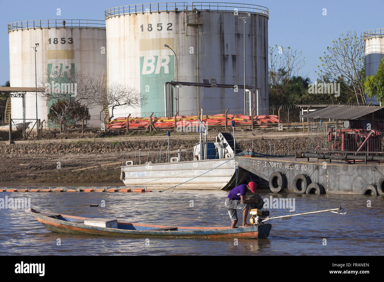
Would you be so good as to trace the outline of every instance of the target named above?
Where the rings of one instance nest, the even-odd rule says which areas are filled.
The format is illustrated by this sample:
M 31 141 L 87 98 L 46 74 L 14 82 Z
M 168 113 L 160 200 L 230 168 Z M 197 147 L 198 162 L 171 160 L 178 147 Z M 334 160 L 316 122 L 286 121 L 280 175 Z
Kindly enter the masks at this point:
M 124 165 L 121 170 L 124 185 L 147 189 L 232 189 L 248 176 L 247 171 L 236 170 L 234 158 Z

